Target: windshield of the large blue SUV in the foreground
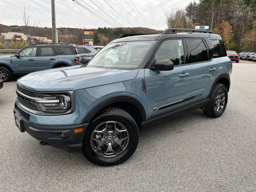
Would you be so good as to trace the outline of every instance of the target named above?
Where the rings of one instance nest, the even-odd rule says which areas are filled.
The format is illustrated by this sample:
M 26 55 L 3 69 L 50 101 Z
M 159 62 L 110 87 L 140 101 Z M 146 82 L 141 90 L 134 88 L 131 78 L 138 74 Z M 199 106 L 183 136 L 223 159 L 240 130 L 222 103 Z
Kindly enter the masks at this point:
M 124 70 L 138 69 L 154 43 L 155 41 L 110 43 L 90 60 L 87 67 Z

